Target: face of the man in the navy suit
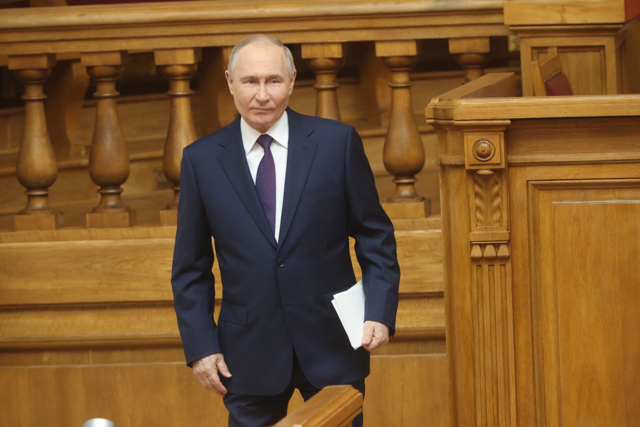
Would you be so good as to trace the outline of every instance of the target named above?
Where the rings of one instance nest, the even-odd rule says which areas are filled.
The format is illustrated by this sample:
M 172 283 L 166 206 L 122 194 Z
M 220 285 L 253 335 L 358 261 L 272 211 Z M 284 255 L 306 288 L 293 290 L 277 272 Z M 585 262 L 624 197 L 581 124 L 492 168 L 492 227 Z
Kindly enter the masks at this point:
M 282 47 L 256 43 L 238 52 L 234 75 L 225 77 L 240 115 L 265 133 L 287 108 L 296 72 L 289 76 Z

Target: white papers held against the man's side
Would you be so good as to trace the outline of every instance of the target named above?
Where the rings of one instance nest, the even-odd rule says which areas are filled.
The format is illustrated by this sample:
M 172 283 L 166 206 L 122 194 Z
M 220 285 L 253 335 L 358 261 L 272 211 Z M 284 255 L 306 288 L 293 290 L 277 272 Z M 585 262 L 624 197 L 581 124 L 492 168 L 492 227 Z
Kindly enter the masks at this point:
M 346 291 L 333 295 L 333 307 L 347 332 L 351 346 L 356 349 L 362 343 L 364 325 L 364 289 L 362 280 Z

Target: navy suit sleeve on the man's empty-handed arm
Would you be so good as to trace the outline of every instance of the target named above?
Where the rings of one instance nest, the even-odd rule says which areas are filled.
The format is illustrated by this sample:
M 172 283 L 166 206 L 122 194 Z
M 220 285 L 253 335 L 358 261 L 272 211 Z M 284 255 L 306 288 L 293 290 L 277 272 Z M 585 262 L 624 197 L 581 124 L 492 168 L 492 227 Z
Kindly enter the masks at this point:
M 178 226 L 171 284 L 187 365 L 220 352 L 213 320 L 214 277 L 211 229 L 188 150 L 182 151 Z

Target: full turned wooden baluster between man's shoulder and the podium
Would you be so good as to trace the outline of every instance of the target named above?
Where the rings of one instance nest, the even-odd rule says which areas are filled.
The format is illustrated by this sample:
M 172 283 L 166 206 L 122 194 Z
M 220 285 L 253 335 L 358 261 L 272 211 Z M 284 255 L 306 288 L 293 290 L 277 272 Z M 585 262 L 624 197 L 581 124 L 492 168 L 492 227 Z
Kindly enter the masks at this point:
M 391 71 L 391 113 L 383 163 L 394 176 L 396 192 L 384 204 L 392 218 L 424 218 L 429 200 L 415 191 L 415 175 L 424 166 L 424 147 L 413 115 L 409 72 L 418 60 L 417 40 L 376 42 L 376 55 Z

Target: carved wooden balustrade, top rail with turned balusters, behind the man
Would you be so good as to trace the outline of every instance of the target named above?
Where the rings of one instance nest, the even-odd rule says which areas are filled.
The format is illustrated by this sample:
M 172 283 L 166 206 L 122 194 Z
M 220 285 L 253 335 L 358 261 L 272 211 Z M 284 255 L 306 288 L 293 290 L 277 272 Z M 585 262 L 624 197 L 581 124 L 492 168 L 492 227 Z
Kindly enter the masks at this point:
M 286 6 L 286 7 L 285 7 Z M 207 133 L 227 124 L 236 115 L 230 107 L 230 95 L 222 78 L 231 46 L 246 35 L 260 31 L 274 35 L 287 44 L 301 44 L 302 58 L 316 74 L 316 115 L 340 120 L 337 72 L 346 61 L 349 42 L 373 41 L 376 55 L 390 74 L 390 113 L 383 150 L 383 163 L 393 176 L 396 192 L 385 204 L 395 218 L 424 218 L 430 211 L 429 200 L 415 189 L 415 175 L 424 166 L 425 154 L 412 106 L 410 70 L 417 60 L 422 38 L 451 38 L 451 52 L 465 68 L 467 79 L 482 74 L 488 59 L 488 37 L 508 35 L 502 23 L 502 1 L 453 0 L 415 2 L 387 0 L 369 3 L 360 0 L 329 0 L 309 8 L 306 4 L 267 4 L 260 14 L 231 1 L 182 2 L 164 4 L 118 4 L 58 8 L 29 8 L 0 11 L 0 55 L 13 58 L 48 58 L 38 68 L 23 67 L 19 77 L 29 88 L 25 114 L 25 138 L 20 148 L 19 179 L 28 189 L 28 204 L 15 220 L 16 229 L 55 227 L 60 216 L 47 205 L 48 187 L 56 176 L 56 161 L 47 136 L 42 99 L 42 81 L 51 72 L 55 52 L 58 56 L 81 61 L 65 70 L 60 81 L 81 80 L 86 72 L 97 86 L 97 111 L 90 148 L 89 172 L 99 186 L 100 202 L 86 214 L 88 227 L 128 227 L 136 222 L 135 211 L 124 204 L 122 185 L 129 176 L 129 156 L 120 129 L 116 109 L 116 79 L 123 69 L 124 52 L 145 49 L 155 52 L 156 65 L 170 83 L 170 123 L 166 134 L 163 172 L 172 182 L 173 200 L 160 212 L 163 225 L 175 224 L 179 200 L 180 156 L 182 148 L 197 137 L 191 111 L 189 79 L 200 68 L 198 80 L 198 129 Z M 482 19 L 476 19 L 481 13 Z M 304 22 L 304 31 L 299 25 Z M 413 40 L 398 40 L 411 29 Z M 200 49 L 205 48 L 203 54 Z M 202 63 L 201 62 L 202 58 Z M 375 60 L 375 56 L 371 54 Z M 367 64 L 371 65 L 371 58 Z M 24 60 L 23 60 L 24 61 Z M 200 65 L 198 65 L 200 63 Z M 35 71 L 35 70 L 38 71 Z M 48 71 L 47 71 L 48 70 Z M 362 73 L 362 68 L 360 69 Z M 371 76 L 363 76 L 371 82 Z M 79 85 L 86 85 L 86 81 Z M 55 88 L 60 97 L 62 86 Z M 381 87 L 380 87 L 381 89 Z M 39 94 L 38 94 L 39 93 Z M 81 106 L 77 90 L 55 106 Z M 69 93 L 71 96 L 71 93 Z M 64 97 L 61 97 L 64 98 Z M 70 100 L 70 101 L 69 101 Z M 380 106 L 378 106 L 380 108 Z M 383 106 L 385 108 L 385 106 Z M 383 125 L 383 119 L 372 124 Z M 68 120 L 68 114 L 56 111 L 56 124 Z M 60 119 L 58 119 L 60 118 Z M 51 120 L 50 120 L 51 121 Z M 83 152 L 83 143 L 71 141 L 65 125 L 56 126 L 55 146 L 61 154 Z M 38 172 L 34 173 L 35 165 Z M 29 213 L 42 215 L 28 219 Z M 35 218 L 35 216 L 34 216 Z

